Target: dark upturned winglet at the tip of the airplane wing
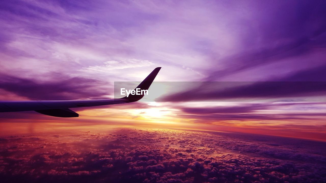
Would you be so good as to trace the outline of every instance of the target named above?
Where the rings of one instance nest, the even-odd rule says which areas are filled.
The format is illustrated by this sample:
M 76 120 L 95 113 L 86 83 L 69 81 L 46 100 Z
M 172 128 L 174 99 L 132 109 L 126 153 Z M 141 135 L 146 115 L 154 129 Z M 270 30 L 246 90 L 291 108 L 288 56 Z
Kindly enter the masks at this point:
M 161 67 L 156 67 L 151 74 L 149 74 L 136 88 L 140 88 L 141 90 L 148 90 L 154 81 L 157 73 L 160 71 Z M 136 90 L 136 89 L 135 89 Z M 123 97 L 121 99 L 126 99 L 129 102 L 139 101 L 144 95 L 129 95 L 128 97 Z

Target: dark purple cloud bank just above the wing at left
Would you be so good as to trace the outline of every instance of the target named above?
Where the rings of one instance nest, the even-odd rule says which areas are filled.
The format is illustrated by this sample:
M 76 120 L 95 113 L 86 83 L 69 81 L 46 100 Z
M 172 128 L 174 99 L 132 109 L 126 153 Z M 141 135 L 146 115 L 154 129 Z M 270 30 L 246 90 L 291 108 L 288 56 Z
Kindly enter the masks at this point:
M 39 78 L 26 79 L 4 74 L 1 75 L 0 81 L 1 89 L 31 100 L 98 99 L 103 95 L 110 94 L 107 88 L 101 87 L 103 85 L 105 86 L 106 83 L 95 79 L 69 77 L 59 73 L 52 73 L 52 80 L 50 81 L 40 81 Z M 96 90 L 94 90 L 95 88 Z

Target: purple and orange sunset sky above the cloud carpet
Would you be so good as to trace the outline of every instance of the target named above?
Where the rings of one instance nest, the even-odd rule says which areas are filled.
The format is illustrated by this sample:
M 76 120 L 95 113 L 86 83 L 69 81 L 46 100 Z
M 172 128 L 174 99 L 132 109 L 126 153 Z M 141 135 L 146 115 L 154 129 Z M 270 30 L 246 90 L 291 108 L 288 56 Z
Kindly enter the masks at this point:
M 326 141 L 324 7 L 325 1 L 1 2 L 0 100 L 113 98 L 115 81 L 142 81 L 156 67 L 162 69 L 155 81 L 245 84 L 76 108 L 81 116 L 73 119 L 1 113 L 2 133 L 42 131 L 47 122 Z M 265 81 L 282 87 L 266 90 Z M 286 82 L 304 84 L 297 90 Z

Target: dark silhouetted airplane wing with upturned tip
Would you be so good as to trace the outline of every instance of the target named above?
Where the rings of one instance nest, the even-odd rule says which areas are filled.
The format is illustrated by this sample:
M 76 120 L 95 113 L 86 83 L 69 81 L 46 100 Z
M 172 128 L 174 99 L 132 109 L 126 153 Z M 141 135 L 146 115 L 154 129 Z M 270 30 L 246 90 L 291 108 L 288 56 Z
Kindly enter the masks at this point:
M 161 67 L 155 68 L 136 88 L 148 90 Z M 71 118 L 79 114 L 70 110 L 75 107 L 104 106 L 136 102 L 144 95 L 129 95 L 120 99 L 63 100 L 63 101 L 0 101 L 0 112 L 36 111 L 41 114 Z

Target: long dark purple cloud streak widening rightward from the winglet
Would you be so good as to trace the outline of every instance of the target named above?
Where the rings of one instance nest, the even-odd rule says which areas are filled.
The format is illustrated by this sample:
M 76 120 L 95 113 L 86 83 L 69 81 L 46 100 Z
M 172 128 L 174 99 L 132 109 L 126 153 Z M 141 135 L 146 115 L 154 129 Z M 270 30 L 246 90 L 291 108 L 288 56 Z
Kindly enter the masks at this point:
M 325 95 L 325 66 L 306 69 L 276 81 L 202 82 L 188 91 L 165 95 L 159 101 L 196 100 L 276 100 L 278 98 L 316 97 Z M 190 84 L 189 84 L 190 85 Z M 321 97 L 323 98 L 323 97 Z M 319 100 L 320 101 L 320 100 Z

